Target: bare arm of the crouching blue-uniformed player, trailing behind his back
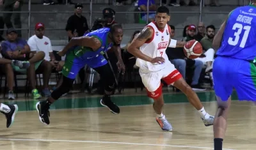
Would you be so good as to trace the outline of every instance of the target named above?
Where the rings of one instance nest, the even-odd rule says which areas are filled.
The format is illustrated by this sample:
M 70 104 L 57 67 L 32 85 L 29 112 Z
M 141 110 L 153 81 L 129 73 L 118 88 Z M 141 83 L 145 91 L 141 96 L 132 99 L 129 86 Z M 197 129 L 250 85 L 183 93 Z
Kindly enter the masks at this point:
M 89 36 L 81 36 L 81 37 L 76 37 L 72 38 L 68 44 L 64 47 L 63 50 L 58 52 L 60 56 L 65 56 L 67 53 L 68 49 L 74 46 L 81 46 L 81 47 L 90 47 L 93 50 L 97 50 L 101 47 L 101 42 L 98 38 L 95 37 L 89 37 Z

